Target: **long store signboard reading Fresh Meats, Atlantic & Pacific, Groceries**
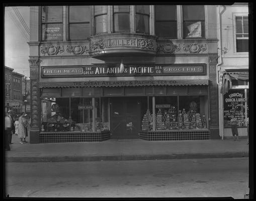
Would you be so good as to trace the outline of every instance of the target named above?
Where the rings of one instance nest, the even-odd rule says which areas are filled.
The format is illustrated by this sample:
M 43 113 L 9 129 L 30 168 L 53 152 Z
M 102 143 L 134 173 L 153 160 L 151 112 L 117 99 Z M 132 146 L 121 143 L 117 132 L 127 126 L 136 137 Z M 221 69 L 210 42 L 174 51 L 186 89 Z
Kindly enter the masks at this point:
M 205 64 L 42 66 L 42 77 L 205 75 Z

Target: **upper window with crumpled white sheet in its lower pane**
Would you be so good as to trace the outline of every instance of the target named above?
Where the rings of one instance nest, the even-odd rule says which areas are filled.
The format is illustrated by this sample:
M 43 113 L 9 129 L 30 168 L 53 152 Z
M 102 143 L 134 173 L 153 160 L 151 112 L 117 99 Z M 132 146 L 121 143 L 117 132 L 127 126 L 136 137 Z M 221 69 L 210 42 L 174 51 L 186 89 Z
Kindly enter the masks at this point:
M 184 38 L 205 37 L 205 11 L 202 5 L 183 6 Z

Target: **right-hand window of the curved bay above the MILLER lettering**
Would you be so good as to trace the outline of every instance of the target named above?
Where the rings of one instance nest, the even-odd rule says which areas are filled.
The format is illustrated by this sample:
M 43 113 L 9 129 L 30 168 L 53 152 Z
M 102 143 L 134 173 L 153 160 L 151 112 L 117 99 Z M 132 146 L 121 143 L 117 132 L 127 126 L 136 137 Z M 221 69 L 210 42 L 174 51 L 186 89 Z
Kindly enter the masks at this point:
M 136 33 L 149 34 L 149 5 L 136 7 Z

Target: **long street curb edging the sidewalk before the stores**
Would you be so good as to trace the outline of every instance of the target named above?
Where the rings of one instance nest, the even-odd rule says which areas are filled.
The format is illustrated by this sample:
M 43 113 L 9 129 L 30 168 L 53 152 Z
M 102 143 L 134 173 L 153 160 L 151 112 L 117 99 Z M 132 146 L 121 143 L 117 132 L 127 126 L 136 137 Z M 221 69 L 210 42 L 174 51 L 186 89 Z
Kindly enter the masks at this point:
M 190 153 L 190 154 L 150 154 L 150 155 L 106 155 L 106 156 L 42 156 L 7 157 L 6 162 L 71 162 L 71 161 L 120 161 L 120 160 L 167 160 L 200 158 L 248 157 L 248 152 Z

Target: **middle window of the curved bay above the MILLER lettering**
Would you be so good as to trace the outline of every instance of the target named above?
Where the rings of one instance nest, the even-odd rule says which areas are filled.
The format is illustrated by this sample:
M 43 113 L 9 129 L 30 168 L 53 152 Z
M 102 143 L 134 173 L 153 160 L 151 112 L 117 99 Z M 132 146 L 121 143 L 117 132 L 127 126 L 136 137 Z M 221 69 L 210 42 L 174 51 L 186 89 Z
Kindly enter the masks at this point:
M 130 6 L 114 6 L 114 32 L 130 32 Z

